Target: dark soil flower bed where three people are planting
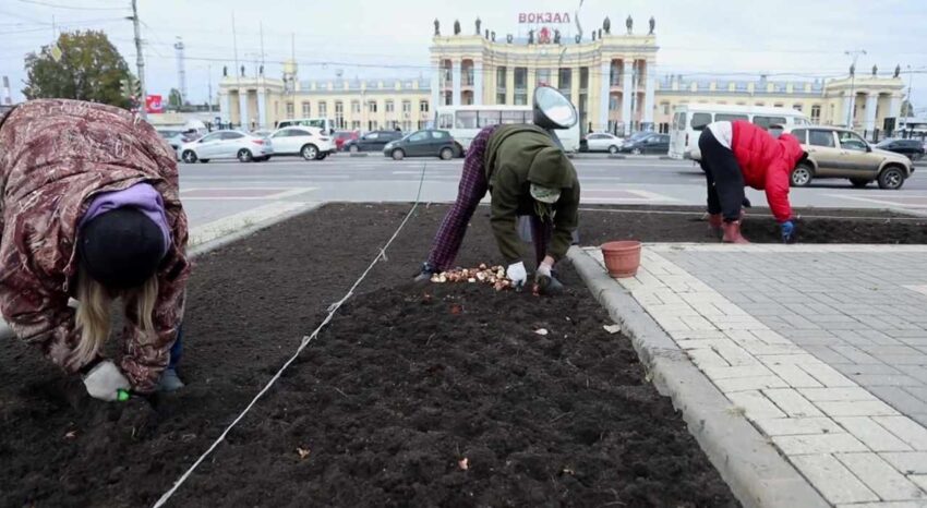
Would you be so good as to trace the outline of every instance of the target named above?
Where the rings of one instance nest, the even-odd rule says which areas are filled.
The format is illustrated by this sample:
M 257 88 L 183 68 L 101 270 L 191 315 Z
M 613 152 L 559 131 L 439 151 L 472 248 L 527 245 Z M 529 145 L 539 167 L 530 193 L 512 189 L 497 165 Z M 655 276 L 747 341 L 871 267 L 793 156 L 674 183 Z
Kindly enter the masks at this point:
M 176 395 L 89 400 L 35 350 L 3 343 L 0 505 L 154 503 L 317 326 L 407 210 L 328 205 L 201 258 L 184 324 L 189 386 Z M 445 210 L 419 209 L 388 262 L 173 506 L 736 506 L 628 340 L 603 329 L 607 316 L 567 264 L 568 289 L 556 299 L 409 283 Z M 473 219 L 461 265 L 499 262 L 486 211 Z M 586 213 L 583 243 L 708 241 L 690 211 Z M 775 240 L 769 220 L 755 219 L 751 240 Z M 808 231 L 923 241 L 908 222 L 844 222 Z

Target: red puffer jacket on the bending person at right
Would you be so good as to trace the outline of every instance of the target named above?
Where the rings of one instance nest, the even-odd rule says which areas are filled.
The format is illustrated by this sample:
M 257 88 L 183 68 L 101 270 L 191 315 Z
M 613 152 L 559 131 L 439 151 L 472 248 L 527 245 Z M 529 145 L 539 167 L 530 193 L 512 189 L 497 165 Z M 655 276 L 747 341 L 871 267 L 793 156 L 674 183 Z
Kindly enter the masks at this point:
M 791 134 L 776 140 L 750 122 L 738 120 L 733 125 L 731 148 L 741 165 L 744 182 L 757 190 L 766 190 L 766 201 L 775 220 L 792 218 L 788 204 L 788 176 L 805 155 L 802 145 Z

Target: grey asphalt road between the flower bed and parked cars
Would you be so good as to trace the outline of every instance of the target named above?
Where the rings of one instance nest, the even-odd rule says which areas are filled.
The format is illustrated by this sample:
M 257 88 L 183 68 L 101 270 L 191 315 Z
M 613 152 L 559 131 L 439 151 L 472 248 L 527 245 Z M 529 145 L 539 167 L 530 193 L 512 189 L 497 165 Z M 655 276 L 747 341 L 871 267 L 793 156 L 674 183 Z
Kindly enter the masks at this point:
M 574 159 L 582 199 L 589 204 L 702 205 L 705 178 L 690 161 L 658 157 L 613 159 L 582 154 Z M 325 160 L 277 157 L 267 162 L 237 160 L 180 165 L 181 196 L 193 226 L 272 204 L 348 202 L 411 202 L 419 192 L 426 202 L 450 202 L 457 195 L 462 159 L 419 158 L 394 161 L 378 154 L 351 157 L 336 154 Z M 812 182 L 793 189 L 795 206 L 836 208 L 905 208 L 927 211 L 927 167 L 900 191 L 871 184 L 853 189 L 846 180 Z M 755 205 L 763 206 L 760 191 L 748 190 Z M 267 211 L 266 209 L 264 210 Z

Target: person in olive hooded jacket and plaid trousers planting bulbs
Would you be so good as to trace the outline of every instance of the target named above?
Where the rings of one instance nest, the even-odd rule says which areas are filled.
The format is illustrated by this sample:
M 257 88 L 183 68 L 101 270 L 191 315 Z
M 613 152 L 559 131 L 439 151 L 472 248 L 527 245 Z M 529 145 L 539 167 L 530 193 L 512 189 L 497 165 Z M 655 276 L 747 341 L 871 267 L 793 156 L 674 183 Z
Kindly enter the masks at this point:
M 418 279 L 452 268 L 470 218 L 489 192 L 490 223 L 516 286 L 528 280 L 516 228 L 518 216 L 531 218 L 538 263 L 535 280 L 555 292 L 552 268 L 566 255 L 577 228 L 579 180 L 573 162 L 551 135 L 534 125 L 491 125 L 470 143 L 457 192 L 435 235 Z

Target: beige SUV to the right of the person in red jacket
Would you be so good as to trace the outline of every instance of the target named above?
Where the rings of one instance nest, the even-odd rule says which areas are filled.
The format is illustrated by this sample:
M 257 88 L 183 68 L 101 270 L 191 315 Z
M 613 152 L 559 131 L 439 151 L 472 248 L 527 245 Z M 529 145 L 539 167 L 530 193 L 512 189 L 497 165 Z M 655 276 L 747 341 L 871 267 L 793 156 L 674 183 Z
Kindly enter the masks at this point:
M 846 129 L 788 125 L 785 132 L 797 137 L 808 153 L 808 158 L 792 170 L 792 186 L 807 186 L 818 178 L 845 178 L 856 188 L 878 181 L 880 189 L 896 190 L 914 173 L 907 157 L 872 148 Z

